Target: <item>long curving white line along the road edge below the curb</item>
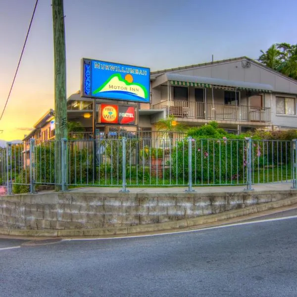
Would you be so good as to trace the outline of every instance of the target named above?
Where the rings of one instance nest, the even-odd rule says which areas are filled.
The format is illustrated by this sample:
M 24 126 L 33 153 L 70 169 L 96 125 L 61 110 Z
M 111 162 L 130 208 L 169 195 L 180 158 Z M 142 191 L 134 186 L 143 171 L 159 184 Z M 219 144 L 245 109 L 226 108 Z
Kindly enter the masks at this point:
M 227 227 L 234 227 L 234 226 L 242 226 L 242 225 L 249 225 L 249 224 L 258 224 L 258 223 L 266 223 L 266 222 L 273 222 L 273 221 L 282 221 L 282 220 L 288 220 L 288 219 L 296 219 L 297 215 L 287 216 L 287 217 L 281 217 L 281 218 L 274 218 L 274 219 L 264 219 L 264 220 L 258 220 L 258 221 L 251 221 L 251 222 L 242 222 L 242 223 L 235 223 L 235 224 L 229 224 L 229 225 L 221 225 L 221 226 L 215 226 L 215 227 L 207 227 L 202 229 L 195 229 L 195 230 L 184 230 L 184 231 L 177 231 L 177 232 L 168 232 L 168 233 L 160 233 L 160 234 L 147 234 L 147 235 L 134 235 L 134 236 L 121 236 L 121 237 L 109 237 L 109 238 L 70 238 L 70 239 L 62 239 L 62 241 L 89 241 L 89 240 L 109 240 L 109 239 L 129 239 L 129 238 L 139 238 L 139 237 L 150 237 L 150 236 L 161 236 L 161 235 L 171 235 L 171 234 L 179 234 L 179 233 L 188 233 L 188 232 L 199 232 L 199 231 L 205 231 L 205 230 L 211 230 L 211 229 L 220 229 L 220 228 L 227 228 Z

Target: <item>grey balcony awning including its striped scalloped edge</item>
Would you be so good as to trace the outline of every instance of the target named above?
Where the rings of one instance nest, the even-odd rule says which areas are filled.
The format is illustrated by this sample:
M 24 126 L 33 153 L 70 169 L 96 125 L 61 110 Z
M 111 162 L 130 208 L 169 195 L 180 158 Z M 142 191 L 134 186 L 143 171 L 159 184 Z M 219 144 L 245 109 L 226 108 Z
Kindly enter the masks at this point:
M 201 88 L 218 88 L 229 90 L 248 90 L 255 92 L 271 93 L 273 87 L 266 84 L 256 84 L 242 81 L 231 81 L 212 77 L 200 77 L 181 75 L 176 73 L 165 73 L 167 81 L 173 86 L 201 87 Z M 228 87 L 228 88 L 226 88 Z

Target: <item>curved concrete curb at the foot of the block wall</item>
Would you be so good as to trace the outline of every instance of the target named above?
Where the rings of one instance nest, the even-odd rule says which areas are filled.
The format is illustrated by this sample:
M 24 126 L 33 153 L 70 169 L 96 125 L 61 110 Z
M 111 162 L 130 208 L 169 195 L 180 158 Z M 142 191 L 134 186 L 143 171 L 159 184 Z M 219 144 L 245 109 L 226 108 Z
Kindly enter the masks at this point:
M 35 230 L 35 229 L 7 229 L 0 228 L 0 234 L 11 236 L 36 236 L 36 237 L 72 237 L 72 236 L 110 236 L 110 235 L 130 235 L 135 233 L 146 233 L 154 231 L 168 231 L 171 229 L 185 229 L 202 224 L 214 223 L 227 219 L 258 213 L 273 208 L 289 206 L 297 203 L 297 197 L 267 202 L 263 204 L 254 204 L 241 209 L 229 210 L 218 214 L 199 216 L 197 218 L 184 219 L 173 222 L 122 226 L 112 228 L 97 229 L 67 229 L 67 230 Z

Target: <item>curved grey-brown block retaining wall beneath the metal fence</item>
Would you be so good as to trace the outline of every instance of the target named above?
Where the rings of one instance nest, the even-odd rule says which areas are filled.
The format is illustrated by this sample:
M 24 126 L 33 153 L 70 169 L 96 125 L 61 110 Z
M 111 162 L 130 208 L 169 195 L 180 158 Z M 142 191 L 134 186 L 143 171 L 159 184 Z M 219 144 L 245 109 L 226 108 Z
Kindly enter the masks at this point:
M 170 191 L 170 189 L 168 189 Z M 89 229 L 154 224 L 296 196 L 294 191 L 232 193 L 40 193 L 0 197 L 0 227 Z

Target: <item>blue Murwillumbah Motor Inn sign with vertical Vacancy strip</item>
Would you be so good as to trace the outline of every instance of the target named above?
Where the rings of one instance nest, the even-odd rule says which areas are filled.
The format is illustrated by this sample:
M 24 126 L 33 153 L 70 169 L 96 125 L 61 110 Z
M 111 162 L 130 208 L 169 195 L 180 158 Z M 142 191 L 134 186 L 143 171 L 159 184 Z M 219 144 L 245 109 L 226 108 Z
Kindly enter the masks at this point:
M 149 102 L 149 68 L 82 59 L 82 97 Z

